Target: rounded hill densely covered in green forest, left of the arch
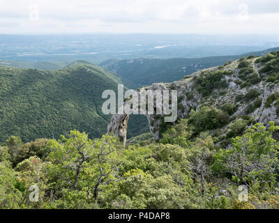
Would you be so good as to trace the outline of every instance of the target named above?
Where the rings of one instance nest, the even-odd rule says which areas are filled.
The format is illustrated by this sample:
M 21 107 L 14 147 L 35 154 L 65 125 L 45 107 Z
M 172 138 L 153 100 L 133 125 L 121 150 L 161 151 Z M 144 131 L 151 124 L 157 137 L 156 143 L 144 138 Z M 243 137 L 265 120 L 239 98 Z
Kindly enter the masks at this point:
M 102 93 L 117 90 L 118 79 L 78 61 L 61 70 L 0 67 L 0 141 L 57 138 L 71 129 L 100 137 L 110 116 L 103 116 Z

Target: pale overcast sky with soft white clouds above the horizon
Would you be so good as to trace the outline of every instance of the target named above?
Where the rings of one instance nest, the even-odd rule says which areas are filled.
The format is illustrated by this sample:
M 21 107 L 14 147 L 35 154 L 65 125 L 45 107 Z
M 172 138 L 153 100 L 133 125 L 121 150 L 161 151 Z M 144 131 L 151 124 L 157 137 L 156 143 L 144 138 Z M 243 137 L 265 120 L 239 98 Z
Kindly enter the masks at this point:
M 279 33 L 278 0 L 0 3 L 0 33 Z

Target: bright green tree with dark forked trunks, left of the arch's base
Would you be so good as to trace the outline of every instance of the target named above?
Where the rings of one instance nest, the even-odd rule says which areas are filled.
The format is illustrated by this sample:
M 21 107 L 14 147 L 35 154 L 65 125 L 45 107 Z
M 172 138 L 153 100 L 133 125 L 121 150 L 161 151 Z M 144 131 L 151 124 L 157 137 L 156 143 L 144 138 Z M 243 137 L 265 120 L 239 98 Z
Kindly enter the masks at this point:
M 76 198 L 73 203 L 88 208 L 80 206 L 81 197 L 86 203 L 98 201 L 100 187 L 118 180 L 114 159 L 120 144 L 115 137 L 103 135 L 101 139 L 92 140 L 85 132 L 73 130 L 59 141 L 51 140 L 50 145 L 52 190 L 66 203 L 67 199 Z M 63 201 L 60 204 L 63 206 Z

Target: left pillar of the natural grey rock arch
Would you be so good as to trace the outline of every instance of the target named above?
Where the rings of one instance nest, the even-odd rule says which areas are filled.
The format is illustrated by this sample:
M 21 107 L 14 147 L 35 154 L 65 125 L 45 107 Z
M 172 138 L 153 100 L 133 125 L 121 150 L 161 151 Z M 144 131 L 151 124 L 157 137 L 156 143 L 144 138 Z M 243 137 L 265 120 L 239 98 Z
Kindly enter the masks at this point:
M 112 116 L 109 125 L 107 125 L 107 134 L 114 134 L 124 146 L 126 145 L 128 120 L 128 114 L 115 114 Z

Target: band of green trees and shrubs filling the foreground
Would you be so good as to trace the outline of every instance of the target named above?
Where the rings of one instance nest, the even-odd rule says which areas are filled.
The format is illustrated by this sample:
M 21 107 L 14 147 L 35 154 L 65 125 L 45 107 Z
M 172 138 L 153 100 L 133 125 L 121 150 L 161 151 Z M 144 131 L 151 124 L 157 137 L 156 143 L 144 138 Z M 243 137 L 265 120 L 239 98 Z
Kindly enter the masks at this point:
M 157 143 L 146 136 L 126 148 L 77 130 L 28 144 L 10 137 L 0 147 L 0 207 L 279 208 L 278 126 L 257 123 L 230 148 L 193 130 L 182 119 Z M 239 200 L 239 185 L 248 187 L 247 201 Z

